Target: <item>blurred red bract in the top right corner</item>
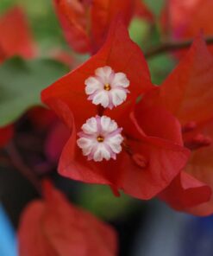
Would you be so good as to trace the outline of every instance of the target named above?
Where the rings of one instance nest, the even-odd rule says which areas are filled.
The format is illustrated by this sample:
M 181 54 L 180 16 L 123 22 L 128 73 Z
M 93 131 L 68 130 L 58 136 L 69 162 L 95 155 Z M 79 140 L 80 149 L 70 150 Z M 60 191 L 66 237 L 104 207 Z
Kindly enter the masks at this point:
M 168 0 L 161 24 L 164 33 L 176 40 L 194 38 L 201 30 L 210 36 L 213 35 L 212 12 L 211 0 Z

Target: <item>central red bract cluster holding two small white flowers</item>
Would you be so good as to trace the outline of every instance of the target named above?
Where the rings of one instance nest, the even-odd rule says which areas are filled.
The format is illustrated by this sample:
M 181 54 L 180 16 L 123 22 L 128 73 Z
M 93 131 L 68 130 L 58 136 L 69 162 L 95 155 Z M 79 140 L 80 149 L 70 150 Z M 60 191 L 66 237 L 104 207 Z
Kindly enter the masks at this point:
M 137 104 L 153 88 L 141 49 L 116 19 L 97 54 L 41 93 L 72 131 L 60 174 L 141 199 L 165 189 L 189 151 L 176 118 L 162 108 L 145 112 Z

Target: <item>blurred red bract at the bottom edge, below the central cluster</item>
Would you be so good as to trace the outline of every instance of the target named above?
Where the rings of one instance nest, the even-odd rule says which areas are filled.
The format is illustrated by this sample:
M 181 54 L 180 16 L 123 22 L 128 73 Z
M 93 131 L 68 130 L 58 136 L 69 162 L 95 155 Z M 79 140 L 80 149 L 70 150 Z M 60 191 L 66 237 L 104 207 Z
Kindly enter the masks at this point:
M 114 230 L 74 207 L 49 182 L 44 199 L 22 213 L 18 240 L 21 256 L 114 256 L 117 251 Z

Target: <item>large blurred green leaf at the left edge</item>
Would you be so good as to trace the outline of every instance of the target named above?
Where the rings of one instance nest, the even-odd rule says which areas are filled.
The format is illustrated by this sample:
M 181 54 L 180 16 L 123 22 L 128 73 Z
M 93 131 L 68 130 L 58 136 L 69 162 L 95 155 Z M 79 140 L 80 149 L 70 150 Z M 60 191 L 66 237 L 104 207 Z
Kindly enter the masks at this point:
M 28 108 L 41 105 L 41 90 L 66 74 L 58 61 L 13 58 L 0 66 L 0 126 L 9 125 Z

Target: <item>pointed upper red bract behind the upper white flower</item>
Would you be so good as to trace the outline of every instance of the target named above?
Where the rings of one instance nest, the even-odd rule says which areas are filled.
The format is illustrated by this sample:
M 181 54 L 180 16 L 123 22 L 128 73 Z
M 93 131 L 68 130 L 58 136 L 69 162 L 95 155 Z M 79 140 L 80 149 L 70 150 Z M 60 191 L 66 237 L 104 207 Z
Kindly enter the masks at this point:
M 116 21 L 112 24 L 110 35 L 103 48 L 81 67 L 47 87 L 41 93 L 42 101 L 55 111 L 57 111 L 58 100 L 64 101 L 72 110 L 79 129 L 87 118 L 91 118 L 97 112 L 97 106 L 87 100 L 85 80 L 94 74 L 97 67 L 104 66 L 112 67 L 115 72 L 127 74 L 131 83 L 128 100 L 132 103 L 135 103 L 139 94 L 153 87 L 141 49 L 130 40 L 128 30 L 123 23 Z M 122 106 L 118 106 L 113 112 L 120 112 L 121 108 Z

